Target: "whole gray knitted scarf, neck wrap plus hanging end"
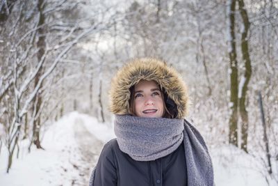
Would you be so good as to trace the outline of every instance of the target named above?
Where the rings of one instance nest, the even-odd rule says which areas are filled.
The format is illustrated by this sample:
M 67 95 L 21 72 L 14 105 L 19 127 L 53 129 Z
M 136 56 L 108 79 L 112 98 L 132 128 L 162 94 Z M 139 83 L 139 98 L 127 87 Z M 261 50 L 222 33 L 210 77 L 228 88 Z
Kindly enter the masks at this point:
M 115 116 L 120 150 L 133 160 L 152 161 L 174 152 L 183 141 L 188 186 L 212 186 L 213 165 L 201 134 L 188 121 L 170 118 Z M 95 170 L 92 171 L 90 185 Z

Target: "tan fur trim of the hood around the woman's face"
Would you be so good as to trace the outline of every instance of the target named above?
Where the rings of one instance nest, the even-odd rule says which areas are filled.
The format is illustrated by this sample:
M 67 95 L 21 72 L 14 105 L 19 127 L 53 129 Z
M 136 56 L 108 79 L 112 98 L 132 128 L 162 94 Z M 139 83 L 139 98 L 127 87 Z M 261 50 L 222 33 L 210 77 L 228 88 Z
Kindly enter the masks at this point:
M 179 73 L 164 61 L 152 58 L 135 59 L 117 72 L 111 83 L 111 111 L 129 114 L 129 88 L 140 80 L 154 80 L 165 89 L 168 97 L 177 104 L 177 118 L 184 118 L 188 109 L 186 85 Z

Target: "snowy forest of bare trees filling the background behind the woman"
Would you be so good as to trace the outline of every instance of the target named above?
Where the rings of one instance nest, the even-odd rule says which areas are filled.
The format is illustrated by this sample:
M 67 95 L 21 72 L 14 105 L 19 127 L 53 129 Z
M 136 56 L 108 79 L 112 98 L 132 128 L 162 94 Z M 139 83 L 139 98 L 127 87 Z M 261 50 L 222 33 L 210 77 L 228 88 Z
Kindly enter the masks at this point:
M 181 73 L 208 147 L 243 150 L 278 185 L 277 41 L 277 0 L 1 0 L 0 158 L 8 172 L 20 141 L 43 149 L 70 111 L 112 123 L 111 78 L 151 56 Z

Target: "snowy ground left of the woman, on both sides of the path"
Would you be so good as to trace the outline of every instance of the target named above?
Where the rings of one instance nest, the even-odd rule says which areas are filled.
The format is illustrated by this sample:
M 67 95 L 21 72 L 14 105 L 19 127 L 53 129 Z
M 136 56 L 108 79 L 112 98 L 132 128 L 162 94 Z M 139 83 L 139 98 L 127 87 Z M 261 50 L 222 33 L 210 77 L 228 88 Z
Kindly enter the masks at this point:
M 81 150 L 90 152 L 90 149 L 87 146 L 81 146 L 79 139 L 83 139 L 86 134 L 76 133 L 76 130 L 83 132 L 82 125 L 90 125 L 92 131 L 98 132 L 99 139 L 108 141 L 106 133 L 109 130 L 107 127 L 97 123 L 95 118 L 72 112 L 51 125 L 44 134 L 42 146 L 45 150 L 32 148 L 31 153 L 28 153 L 26 150 L 28 141 L 24 141 L 21 144 L 22 150 L 19 159 L 14 158 L 10 173 L 6 173 L 8 151 L 6 148 L 2 148 L 0 185 L 88 185 L 90 170 L 95 166 L 97 158 L 95 158 L 95 162 L 85 162 L 86 158 Z M 95 127 L 93 127 L 94 125 Z M 85 126 L 84 128 L 87 130 Z M 76 136 L 79 139 L 76 139 Z M 88 154 L 91 160 L 94 160 L 92 158 L 94 155 L 98 157 L 103 145 L 102 141 L 93 143 L 93 140 L 95 139 L 83 140 L 91 143 L 92 149 L 95 148 L 94 144 L 98 143 L 97 153 Z

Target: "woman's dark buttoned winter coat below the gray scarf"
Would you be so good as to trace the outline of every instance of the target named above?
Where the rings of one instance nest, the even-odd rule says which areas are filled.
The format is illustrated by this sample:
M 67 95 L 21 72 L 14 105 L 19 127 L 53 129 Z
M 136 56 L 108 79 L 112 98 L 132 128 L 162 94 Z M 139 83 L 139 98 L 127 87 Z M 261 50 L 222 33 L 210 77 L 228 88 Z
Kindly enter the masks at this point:
M 187 185 L 183 144 L 173 153 L 154 161 L 139 162 L 122 153 L 117 140 L 103 148 L 97 163 L 96 186 L 184 186 Z

